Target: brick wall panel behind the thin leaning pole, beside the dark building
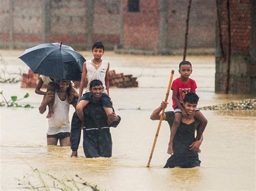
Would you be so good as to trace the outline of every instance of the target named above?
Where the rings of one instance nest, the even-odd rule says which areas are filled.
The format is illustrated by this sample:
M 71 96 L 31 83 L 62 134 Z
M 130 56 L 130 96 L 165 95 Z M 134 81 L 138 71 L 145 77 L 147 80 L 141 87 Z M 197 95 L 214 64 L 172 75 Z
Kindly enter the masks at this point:
M 168 3 L 169 47 L 184 47 L 188 1 L 172 0 Z M 188 48 L 215 46 L 215 1 L 193 0 L 190 8 Z

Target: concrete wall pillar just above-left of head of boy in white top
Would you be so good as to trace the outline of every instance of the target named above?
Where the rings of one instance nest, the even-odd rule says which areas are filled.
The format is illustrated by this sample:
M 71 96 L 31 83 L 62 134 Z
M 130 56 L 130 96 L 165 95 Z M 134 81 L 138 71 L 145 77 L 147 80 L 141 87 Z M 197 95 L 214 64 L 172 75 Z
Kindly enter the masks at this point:
M 93 44 L 93 2 L 86 0 L 86 47 L 89 48 Z

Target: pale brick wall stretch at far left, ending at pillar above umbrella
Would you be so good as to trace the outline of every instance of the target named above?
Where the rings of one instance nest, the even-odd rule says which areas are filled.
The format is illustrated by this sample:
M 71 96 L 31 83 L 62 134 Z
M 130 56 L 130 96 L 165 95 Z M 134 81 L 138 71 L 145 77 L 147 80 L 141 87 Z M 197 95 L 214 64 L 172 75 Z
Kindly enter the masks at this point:
M 43 1 L 1 1 L 1 46 L 8 47 L 11 39 L 14 48 L 21 47 L 23 44 L 41 43 L 43 40 L 42 6 Z

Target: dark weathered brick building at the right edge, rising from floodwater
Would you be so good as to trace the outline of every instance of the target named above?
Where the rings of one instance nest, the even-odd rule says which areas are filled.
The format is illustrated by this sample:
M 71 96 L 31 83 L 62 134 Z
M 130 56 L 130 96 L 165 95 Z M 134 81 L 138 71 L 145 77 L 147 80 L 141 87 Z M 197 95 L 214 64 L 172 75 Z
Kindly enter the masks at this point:
M 215 92 L 256 93 L 255 1 L 230 1 L 230 71 L 228 71 L 228 19 L 226 1 L 218 1 Z M 254 27 L 253 27 L 254 26 Z M 221 37 L 220 37 L 221 35 Z M 221 44 L 223 53 L 221 53 Z

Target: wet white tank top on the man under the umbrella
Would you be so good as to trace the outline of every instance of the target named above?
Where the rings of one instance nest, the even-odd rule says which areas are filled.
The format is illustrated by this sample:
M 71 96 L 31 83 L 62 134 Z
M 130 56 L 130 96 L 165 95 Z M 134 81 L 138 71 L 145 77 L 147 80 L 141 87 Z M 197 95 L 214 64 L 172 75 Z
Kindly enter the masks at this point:
M 65 101 L 59 99 L 58 93 L 55 92 L 55 101 L 52 106 L 53 115 L 48 119 L 48 135 L 53 135 L 62 132 L 70 132 L 70 121 L 69 121 L 69 101 L 68 95 Z

